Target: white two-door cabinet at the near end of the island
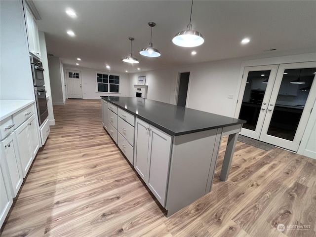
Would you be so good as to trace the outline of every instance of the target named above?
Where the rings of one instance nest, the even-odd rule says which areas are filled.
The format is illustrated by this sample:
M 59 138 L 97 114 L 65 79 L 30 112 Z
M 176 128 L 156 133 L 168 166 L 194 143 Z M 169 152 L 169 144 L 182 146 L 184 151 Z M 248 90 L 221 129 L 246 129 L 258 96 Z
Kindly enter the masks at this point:
M 134 167 L 165 206 L 172 137 L 136 118 Z

